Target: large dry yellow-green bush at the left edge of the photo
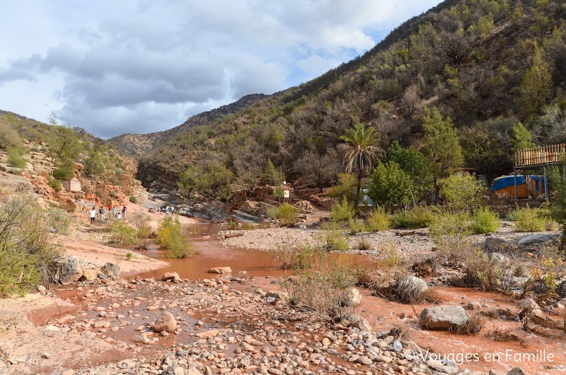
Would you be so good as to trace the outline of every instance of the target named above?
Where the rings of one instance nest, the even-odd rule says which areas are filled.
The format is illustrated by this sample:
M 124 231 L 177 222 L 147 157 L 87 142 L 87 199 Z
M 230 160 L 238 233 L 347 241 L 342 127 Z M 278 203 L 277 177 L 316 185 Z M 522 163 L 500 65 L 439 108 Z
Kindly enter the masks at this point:
M 53 281 L 60 256 L 51 238 L 50 213 L 30 197 L 2 197 L 0 203 L 0 296 L 23 295 Z

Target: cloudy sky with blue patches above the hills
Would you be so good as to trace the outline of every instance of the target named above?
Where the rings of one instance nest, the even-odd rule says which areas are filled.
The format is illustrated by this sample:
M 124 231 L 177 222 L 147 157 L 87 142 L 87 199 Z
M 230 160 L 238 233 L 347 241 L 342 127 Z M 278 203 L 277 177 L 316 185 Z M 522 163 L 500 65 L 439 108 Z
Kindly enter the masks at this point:
M 101 138 L 171 129 L 314 79 L 439 0 L 19 0 L 0 22 L 0 110 Z

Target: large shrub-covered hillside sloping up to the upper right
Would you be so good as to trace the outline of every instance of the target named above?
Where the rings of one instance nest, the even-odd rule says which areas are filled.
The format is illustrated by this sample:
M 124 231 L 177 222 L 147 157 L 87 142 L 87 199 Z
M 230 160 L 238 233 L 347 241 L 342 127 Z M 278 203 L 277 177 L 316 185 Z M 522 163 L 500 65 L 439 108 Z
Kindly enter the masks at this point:
M 188 168 L 209 179 L 201 193 L 218 194 L 260 180 L 269 159 L 309 183 L 312 166 L 338 164 L 355 123 L 374 126 L 384 149 L 398 140 L 419 150 L 425 107 L 458 129 L 463 165 L 488 179 L 509 173 L 518 122 L 538 145 L 566 141 L 563 5 L 445 1 L 317 79 L 178 131 L 142 158 L 140 177 L 148 185 L 166 169 L 174 186 Z

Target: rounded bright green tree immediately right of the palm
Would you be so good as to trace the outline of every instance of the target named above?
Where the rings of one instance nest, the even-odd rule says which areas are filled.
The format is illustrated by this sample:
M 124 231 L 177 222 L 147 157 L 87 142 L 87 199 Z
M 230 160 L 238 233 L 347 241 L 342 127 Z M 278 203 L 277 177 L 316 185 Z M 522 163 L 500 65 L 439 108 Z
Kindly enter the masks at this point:
M 379 163 L 369 176 L 369 197 L 376 204 L 407 206 L 415 202 L 411 176 L 396 162 Z

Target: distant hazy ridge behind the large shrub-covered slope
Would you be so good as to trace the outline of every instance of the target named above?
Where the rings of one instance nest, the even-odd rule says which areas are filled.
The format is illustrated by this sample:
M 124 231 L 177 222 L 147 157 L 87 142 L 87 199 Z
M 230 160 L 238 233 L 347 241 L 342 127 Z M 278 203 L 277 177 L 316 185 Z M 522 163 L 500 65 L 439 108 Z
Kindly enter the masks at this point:
M 126 133 L 121 136 L 110 138 L 108 142 L 116 146 L 116 148 L 121 150 L 124 154 L 128 154 L 131 157 L 143 157 L 154 152 L 154 150 L 162 146 L 168 140 L 176 138 L 180 135 L 180 133 L 189 131 L 193 126 L 210 124 L 214 120 L 223 117 L 226 114 L 239 112 L 244 107 L 254 105 L 262 98 L 265 98 L 265 95 L 246 95 L 237 100 L 235 103 L 223 105 L 215 110 L 195 114 L 195 116 L 189 117 L 183 124 L 172 129 L 147 134 Z

